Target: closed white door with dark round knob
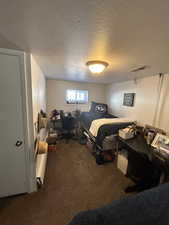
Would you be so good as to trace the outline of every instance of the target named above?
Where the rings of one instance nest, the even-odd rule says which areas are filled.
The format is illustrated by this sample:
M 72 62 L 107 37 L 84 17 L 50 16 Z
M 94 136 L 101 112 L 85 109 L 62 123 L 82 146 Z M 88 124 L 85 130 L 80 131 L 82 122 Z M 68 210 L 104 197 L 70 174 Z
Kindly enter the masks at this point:
M 24 151 L 21 56 L 0 52 L 0 197 L 24 193 Z

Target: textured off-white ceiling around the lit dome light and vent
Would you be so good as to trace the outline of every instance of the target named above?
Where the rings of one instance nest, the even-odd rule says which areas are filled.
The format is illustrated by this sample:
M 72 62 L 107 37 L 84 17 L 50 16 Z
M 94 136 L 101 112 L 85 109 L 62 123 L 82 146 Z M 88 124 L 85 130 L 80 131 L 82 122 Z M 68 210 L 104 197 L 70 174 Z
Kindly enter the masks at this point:
M 0 0 L 0 47 L 34 54 L 47 78 L 110 83 L 169 72 L 168 0 Z M 88 60 L 110 65 L 92 75 Z M 149 65 L 137 73 L 134 67 Z

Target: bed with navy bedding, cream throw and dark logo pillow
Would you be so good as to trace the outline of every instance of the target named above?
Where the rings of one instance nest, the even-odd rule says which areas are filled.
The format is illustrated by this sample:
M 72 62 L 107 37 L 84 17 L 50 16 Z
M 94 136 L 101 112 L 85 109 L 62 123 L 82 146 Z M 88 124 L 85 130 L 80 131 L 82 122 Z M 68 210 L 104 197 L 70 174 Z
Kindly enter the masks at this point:
M 123 129 L 133 123 L 133 121 L 117 118 L 116 116 L 109 114 L 107 104 L 97 102 L 92 102 L 89 112 L 81 113 L 80 122 L 82 129 L 85 130 L 99 150 L 103 150 L 102 143 L 105 137 L 115 135 L 118 133 L 119 129 Z M 100 122 L 101 124 L 98 125 Z M 92 127 L 96 125 L 98 126 L 97 133 L 93 133 Z

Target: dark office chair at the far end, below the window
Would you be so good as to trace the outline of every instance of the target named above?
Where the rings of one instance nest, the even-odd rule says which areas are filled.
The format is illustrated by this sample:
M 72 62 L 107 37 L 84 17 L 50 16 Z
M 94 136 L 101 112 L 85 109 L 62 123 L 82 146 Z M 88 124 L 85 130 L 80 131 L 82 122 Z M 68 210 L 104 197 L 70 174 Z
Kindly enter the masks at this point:
M 76 119 L 72 117 L 71 113 L 65 116 L 63 111 L 60 111 L 60 119 L 62 123 L 61 139 L 66 139 L 68 143 L 74 137 L 73 131 L 76 129 Z

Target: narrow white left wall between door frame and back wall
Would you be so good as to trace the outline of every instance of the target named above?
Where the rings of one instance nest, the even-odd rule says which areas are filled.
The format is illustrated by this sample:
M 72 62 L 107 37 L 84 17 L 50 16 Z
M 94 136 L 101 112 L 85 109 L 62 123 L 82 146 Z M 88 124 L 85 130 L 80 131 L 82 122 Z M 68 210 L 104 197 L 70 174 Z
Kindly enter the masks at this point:
M 46 79 L 40 67 L 31 55 L 33 122 L 37 122 L 38 112 L 46 112 Z

